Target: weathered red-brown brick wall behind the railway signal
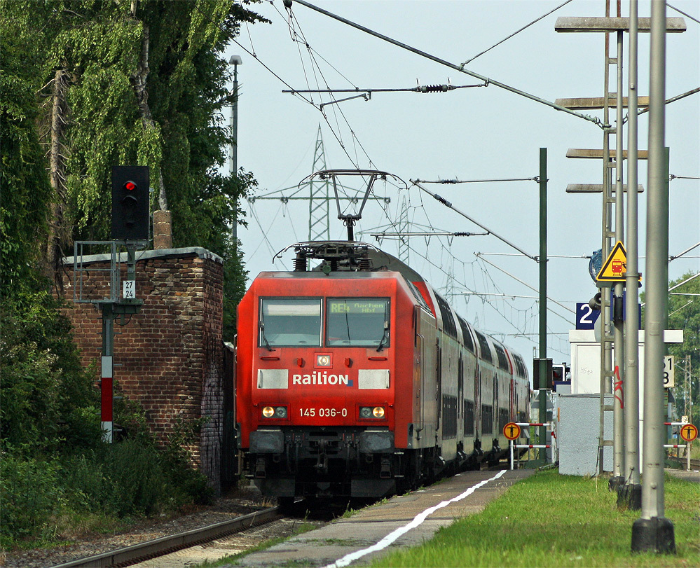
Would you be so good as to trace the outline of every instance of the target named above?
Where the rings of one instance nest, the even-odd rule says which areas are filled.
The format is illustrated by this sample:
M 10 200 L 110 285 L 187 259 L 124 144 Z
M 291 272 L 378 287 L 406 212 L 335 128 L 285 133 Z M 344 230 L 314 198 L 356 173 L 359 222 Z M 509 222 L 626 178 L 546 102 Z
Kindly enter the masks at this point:
M 146 411 L 158 440 L 178 421 L 204 419 L 199 442 L 188 448 L 193 463 L 221 488 L 223 430 L 223 264 L 200 248 L 140 251 L 136 255 L 138 314 L 114 321 L 114 380 L 124 396 Z M 83 256 L 76 281 L 78 298 L 109 298 L 109 256 Z M 126 278 L 125 254 L 119 265 Z M 66 265 L 64 293 L 74 291 L 73 262 Z M 81 279 L 80 279 L 81 278 Z M 117 292 L 121 295 L 121 290 Z M 102 356 L 102 314 L 95 303 L 74 303 L 68 310 L 83 362 Z M 99 380 L 99 364 L 97 375 Z M 120 394 L 116 392 L 116 394 Z M 118 420 L 118 417 L 115 417 Z

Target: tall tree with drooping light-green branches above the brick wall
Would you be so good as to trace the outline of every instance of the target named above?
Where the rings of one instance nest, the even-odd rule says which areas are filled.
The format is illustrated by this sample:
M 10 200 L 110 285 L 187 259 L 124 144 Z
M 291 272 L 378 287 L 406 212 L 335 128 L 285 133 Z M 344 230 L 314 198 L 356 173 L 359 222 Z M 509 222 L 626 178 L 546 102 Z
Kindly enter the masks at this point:
M 8 43 L 23 39 L 8 51 L 29 52 L 39 93 L 34 114 L 53 188 L 42 236 L 47 273 L 73 240 L 109 239 L 111 166 L 149 165 L 154 205 L 172 212 L 174 246 L 229 261 L 226 319 L 235 319 L 246 273 L 227 235 L 255 181 L 242 170 L 233 179 L 219 172 L 235 142 L 224 120 L 234 94 L 221 54 L 242 22 L 264 21 L 249 4 L 0 0 L 0 33 Z

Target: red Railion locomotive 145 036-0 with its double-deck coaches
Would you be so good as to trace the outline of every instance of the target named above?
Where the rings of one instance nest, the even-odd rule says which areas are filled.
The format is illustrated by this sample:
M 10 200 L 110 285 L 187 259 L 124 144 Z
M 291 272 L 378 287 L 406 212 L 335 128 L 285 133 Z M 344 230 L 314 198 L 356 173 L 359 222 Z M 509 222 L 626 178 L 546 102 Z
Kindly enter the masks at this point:
M 369 244 L 294 249 L 238 307 L 239 448 L 263 494 L 382 497 L 505 456 L 502 427 L 529 417 L 521 356 Z

